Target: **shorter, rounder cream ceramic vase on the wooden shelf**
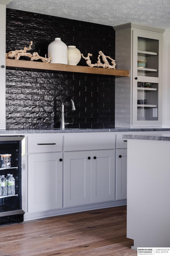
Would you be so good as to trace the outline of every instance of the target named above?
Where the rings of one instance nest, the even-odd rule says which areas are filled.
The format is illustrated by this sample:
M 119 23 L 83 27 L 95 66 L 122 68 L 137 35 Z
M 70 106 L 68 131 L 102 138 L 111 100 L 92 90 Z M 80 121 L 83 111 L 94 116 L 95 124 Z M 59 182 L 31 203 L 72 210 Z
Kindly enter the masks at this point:
M 74 45 L 69 45 L 67 46 L 67 48 L 68 48 L 68 65 L 76 66 L 79 63 L 82 55 Z

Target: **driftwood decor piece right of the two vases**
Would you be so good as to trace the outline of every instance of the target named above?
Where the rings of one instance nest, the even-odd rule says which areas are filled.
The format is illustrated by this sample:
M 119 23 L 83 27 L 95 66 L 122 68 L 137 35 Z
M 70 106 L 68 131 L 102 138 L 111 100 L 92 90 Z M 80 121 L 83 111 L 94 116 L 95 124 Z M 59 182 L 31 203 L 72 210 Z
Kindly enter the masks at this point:
M 89 67 L 103 67 L 103 68 L 108 68 L 108 69 L 115 69 L 115 66 L 116 66 L 115 60 L 109 56 L 104 55 L 104 53 L 102 51 L 99 51 L 99 56 L 97 57 L 98 61 L 95 64 L 91 63 L 91 59 L 90 59 L 90 56 L 92 56 L 91 53 L 88 53 L 87 57 L 84 57 L 83 54 L 81 54 L 81 55 L 86 60 L 86 64 Z M 102 60 L 104 63 L 101 63 L 100 56 L 102 57 Z M 109 64 L 107 58 L 111 60 L 112 65 Z

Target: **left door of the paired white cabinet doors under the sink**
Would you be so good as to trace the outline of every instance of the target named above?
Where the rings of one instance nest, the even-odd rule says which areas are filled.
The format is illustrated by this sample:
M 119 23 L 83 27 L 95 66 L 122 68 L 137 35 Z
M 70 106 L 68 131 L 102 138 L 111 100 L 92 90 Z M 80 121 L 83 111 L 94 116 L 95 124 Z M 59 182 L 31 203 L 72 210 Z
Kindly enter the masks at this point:
M 65 153 L 64 207 L 90 203 L 90 151 Z

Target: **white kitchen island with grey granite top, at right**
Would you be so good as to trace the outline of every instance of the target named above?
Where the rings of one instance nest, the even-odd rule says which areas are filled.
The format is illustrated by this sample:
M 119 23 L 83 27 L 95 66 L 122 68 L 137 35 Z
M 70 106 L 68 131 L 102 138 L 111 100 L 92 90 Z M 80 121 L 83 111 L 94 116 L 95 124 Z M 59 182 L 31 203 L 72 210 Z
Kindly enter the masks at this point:
M 137 247 L 170 247 L 170 134 L 127 139 L 127 237 Z

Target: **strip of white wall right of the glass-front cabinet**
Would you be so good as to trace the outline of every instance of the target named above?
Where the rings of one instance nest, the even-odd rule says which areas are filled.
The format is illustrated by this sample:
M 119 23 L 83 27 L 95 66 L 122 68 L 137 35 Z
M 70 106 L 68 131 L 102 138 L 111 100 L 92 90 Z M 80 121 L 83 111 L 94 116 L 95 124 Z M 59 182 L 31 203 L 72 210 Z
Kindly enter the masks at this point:
M 162 127 L 170 127 L 170 28 L 164 32 L 163 43 L 163 115 Z

